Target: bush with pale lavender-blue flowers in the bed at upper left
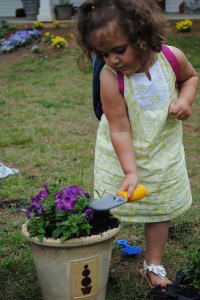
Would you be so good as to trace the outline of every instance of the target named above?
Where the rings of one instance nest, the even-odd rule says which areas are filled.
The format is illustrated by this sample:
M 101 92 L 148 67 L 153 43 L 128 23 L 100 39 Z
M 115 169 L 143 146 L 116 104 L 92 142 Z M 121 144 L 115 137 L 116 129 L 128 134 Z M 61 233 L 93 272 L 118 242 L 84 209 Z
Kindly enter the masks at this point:
M 34 43 L 41 38 L 41 31 L 33 30 L 19 30 L 12 34 L 9 39 L 0 41 L 0 53 L 12 52 L 19 47 L 25 47 Z

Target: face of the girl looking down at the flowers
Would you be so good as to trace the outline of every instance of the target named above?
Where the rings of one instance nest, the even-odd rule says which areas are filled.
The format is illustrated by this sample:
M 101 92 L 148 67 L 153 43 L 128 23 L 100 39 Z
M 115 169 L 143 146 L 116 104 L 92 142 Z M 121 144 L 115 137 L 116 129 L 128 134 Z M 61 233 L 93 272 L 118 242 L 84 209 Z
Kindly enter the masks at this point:
M 92 34 L 92 42 L 95 52 L 115 71 L 129 76 L 141 71 L 141 63 L 133 45 L 113 23 L 96 30 Z

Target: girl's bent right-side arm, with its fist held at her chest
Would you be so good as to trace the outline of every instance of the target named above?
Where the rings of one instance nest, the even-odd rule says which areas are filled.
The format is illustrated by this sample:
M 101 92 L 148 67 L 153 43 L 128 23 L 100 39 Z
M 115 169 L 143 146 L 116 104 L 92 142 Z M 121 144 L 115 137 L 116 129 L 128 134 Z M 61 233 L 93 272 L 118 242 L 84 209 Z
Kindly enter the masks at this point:
M 179 96 L 169 105 L 169 113 L 178 120 L 185 121 L 191 115 L 191 105 L 198 89 L 198 76 L 181 50 L 173 47 L 173 52 L 180 65 L 180 85 Z

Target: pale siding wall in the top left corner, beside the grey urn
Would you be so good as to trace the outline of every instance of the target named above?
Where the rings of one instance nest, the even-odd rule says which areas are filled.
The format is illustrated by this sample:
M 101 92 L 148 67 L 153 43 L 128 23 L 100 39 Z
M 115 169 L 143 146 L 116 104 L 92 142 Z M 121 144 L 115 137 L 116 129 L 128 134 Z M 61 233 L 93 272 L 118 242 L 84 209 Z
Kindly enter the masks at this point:
M 21 0 L 0 0 L 0 17 L 15 17 L 17 8 L 22 8 Z

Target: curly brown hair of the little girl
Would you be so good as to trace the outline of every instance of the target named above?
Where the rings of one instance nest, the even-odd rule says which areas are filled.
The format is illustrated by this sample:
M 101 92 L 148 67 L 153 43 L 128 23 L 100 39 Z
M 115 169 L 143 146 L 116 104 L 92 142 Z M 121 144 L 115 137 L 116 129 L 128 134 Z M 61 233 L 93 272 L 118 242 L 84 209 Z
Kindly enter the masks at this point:
M 151 51 L 160 52 L 165 41 L 167 21 L 155 0 L 86 0 L 80 6 L 78 43 L 82 54 L 80 69 L 86 70 L 95 52 L 92 34 L 95 30 L 115 22 L 133 44 L 142 64 Z M 98 59 L 103 59 L 98 56 Z

